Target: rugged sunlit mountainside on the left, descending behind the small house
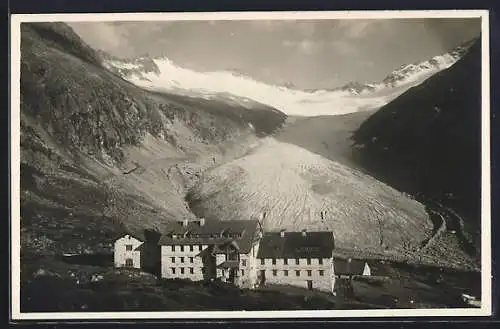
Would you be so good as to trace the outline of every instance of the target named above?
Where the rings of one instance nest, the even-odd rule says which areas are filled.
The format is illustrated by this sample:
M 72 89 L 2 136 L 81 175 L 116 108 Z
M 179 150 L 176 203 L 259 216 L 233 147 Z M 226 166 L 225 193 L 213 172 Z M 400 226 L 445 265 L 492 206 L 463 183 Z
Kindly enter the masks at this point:
M 244 148 L 284 119 L 264 106 L 146 92 L 104 69 L 67 25 L 23 24 L 23 252 L 109 252 L 124 226 L 192 216 L 181 173 L 167 169 L 212 159 L 225 143 Z

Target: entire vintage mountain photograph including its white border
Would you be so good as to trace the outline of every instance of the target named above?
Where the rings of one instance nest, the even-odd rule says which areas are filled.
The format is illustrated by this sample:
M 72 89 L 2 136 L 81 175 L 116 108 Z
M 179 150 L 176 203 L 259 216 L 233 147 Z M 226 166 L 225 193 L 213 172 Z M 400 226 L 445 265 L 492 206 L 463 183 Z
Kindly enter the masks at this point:
M 13 314 L 488 315 L 488 38 L 485 11 L 15 17 Z

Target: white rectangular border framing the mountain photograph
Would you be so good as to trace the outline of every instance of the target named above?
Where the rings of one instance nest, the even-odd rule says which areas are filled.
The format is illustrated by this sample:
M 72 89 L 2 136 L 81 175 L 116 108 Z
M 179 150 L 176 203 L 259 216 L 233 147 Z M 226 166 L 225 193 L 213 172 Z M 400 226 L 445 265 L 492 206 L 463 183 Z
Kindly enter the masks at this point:
M 482 50 L 481 112 L 481 308 L 308 310 L 308 311 L 176 311 L 176 312 L 55 312 L 20 310 L 20 42 L 24 22 L 105 22 L 181 20 L 325 20 L 480 18 Z M 11 319 L 12 320 L 126 320 L 126 319 L 286 319 L 380 317 L 476 317 L 492 315 L 491 181 L 490 181 L 490 61 L 488 10 L 418 11 L 305 11 L 305 12 L 196 12 L 15 14 L 10 23 L 10 149 L 11 149 Z

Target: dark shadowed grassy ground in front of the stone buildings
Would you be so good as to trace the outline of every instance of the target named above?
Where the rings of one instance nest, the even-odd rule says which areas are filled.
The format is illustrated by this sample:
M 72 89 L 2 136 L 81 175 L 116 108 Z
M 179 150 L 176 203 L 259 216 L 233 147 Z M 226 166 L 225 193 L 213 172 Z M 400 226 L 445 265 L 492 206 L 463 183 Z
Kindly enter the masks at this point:
M 28 312 L 313 310 L 466 307 L 460 294 L 478 295 L 478 273 L 378 264 L 390 279 L 355 280 L 337 297 L 291 286 L 249 291 L 220 282 L 156 280 L 136 270 L 74 265 L 51 257 L 22 263 L 21 310 Z M 97 279 L 97 280 L 96 280 Z M 50 295 L 51 298 L 47 298 Z

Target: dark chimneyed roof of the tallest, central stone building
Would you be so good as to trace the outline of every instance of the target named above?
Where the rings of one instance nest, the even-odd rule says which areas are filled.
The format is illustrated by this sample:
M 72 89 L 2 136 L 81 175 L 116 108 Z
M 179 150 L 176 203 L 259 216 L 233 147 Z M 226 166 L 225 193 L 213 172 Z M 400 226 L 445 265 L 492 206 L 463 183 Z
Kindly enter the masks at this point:
M 240 252 L 250 251 L 255 241 L 259 223 L 257 220 L 206 220 L 203 225 L 199 221 L 171 222 L 160 238 L 160 245 L 223 245 L 232 242 Z

